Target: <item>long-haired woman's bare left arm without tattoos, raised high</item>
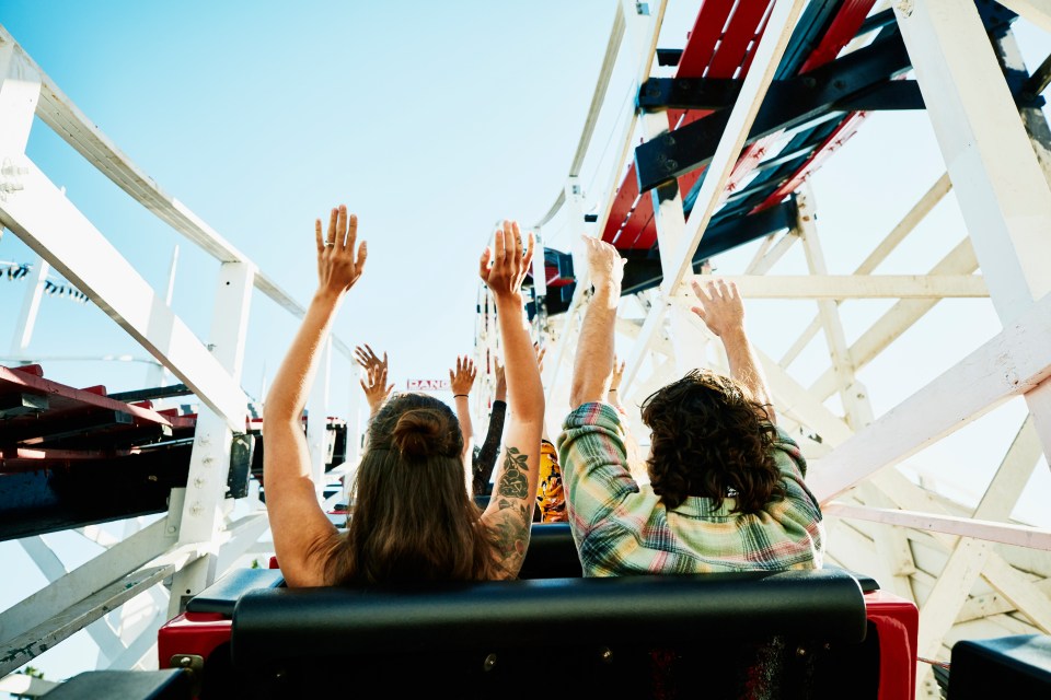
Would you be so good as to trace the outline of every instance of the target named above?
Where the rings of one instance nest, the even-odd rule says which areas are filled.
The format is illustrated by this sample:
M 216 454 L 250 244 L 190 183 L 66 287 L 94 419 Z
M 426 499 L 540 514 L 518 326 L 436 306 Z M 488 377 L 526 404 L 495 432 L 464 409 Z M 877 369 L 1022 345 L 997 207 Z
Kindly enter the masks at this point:
M 343 205 L 332 210 L 324 238 L 321 220 L 315 222 L 317 291 L 274 377 L 263 409 L 266 510 L 274 550 L 290 586 L 325 583 L 325 561 L 337 537 L 310 478 L 302 413 L 317 371 L 319 350 L 344 294 L 358 281 L 365 267 L 363 241 L 355 253 L 357 229 L 357 217 L 348 215 Z

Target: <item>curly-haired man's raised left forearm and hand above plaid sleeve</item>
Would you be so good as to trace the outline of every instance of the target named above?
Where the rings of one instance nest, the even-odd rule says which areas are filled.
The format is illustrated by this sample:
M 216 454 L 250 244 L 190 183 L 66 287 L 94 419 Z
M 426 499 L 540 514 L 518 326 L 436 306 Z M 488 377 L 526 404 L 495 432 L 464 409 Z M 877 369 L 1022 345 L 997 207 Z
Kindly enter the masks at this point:
M 609 243 L 584 237 L 588 250 L 588 270 L 594 293 L 580 326 L 580 340 L 573 365 L 569 408 L 605 400 L 613 373 L 613 326 L 621 300 L 624 259 Z

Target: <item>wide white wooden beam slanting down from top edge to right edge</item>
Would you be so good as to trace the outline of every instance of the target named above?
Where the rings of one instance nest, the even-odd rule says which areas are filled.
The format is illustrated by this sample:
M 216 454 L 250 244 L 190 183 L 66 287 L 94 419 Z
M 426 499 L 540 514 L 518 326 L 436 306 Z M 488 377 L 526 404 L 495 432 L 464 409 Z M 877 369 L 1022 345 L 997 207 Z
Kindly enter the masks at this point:
M 1051 189 L 972 0 L 894 8 L 1001 319 L 1051 292 Z

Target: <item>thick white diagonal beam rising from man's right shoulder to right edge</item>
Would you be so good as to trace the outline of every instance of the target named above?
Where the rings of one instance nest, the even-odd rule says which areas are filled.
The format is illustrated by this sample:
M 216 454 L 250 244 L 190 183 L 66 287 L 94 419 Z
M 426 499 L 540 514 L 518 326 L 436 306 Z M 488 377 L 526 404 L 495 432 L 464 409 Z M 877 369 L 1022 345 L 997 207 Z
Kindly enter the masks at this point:
M 822 503 L 962 428 L 1051 375 L 1051 294 L 871 425 L 816 462 Z

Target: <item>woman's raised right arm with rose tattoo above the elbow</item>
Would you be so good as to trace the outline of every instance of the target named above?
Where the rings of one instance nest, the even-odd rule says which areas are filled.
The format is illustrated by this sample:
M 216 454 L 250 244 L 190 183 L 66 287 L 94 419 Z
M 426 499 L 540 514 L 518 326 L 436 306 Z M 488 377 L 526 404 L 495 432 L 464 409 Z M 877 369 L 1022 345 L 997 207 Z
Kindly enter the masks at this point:
M 482 523 L 494 535 L 494 555 L 507 578 L 518 575 L 529 546 L 544 422 L 544 389 L 522 315 L 522 279 L 530 269 L 534 245 L 530 235 L 523 247 L 518 224 L 505 221 L 493 249 L 482 254 L 480 269 L 496 302 L 511 415 L 504 462 Z

